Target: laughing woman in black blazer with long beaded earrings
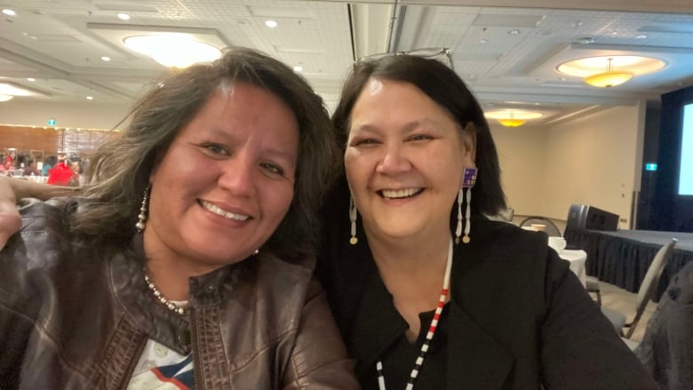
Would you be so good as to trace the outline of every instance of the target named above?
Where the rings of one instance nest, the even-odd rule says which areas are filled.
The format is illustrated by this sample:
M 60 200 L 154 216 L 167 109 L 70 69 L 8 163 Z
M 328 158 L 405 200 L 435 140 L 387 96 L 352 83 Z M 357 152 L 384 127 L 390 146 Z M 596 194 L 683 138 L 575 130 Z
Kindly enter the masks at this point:
M 656 389 L 567 261 L 505 208 L 482 108 L 437 60 L 354 65 L 317 273 L 364 389 Z

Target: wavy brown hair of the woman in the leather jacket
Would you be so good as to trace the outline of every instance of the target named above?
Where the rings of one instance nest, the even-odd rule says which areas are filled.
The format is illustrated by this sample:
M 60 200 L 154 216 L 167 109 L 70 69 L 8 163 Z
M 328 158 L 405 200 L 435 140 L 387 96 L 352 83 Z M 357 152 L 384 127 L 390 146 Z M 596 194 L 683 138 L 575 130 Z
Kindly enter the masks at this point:
M 111 134 L 92 155 L 84 187 L 92 202 L 74 214 L 76 232 L 109 243 L 129 241 L 157 156 L 165 154 L 214 92 L 234 83 L 274 93 L 296 116 L 299 161 L 294 197 L 265 247 L 290 261 L 312 255 L 318 237 L 316 208 L 340 158 L 329 115 L 306 80 L 282 62 L 246 48 L 230 48 L 209 64 L 174 70 L 139 99 L 126 129 Z

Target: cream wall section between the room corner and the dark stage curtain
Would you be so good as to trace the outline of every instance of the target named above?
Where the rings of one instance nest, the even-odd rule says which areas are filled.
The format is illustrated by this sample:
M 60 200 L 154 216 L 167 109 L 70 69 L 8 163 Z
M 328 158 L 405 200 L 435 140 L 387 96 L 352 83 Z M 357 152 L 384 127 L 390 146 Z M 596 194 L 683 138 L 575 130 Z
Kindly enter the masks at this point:
M 566 219 L 571 203 L 621 218 L 629 228 L 640 190 L 644 102 L 610 107 L 547 129 L 544 215 Z

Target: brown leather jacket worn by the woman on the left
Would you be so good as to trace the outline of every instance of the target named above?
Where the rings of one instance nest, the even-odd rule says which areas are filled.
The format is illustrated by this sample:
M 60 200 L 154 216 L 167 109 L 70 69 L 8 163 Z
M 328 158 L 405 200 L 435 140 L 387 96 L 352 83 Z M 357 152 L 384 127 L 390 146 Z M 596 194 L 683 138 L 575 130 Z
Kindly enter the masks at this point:
M 358 388 L 311 270 L 260 252 L 190 279 L 184 318 L 147 289 L 141 235 L 96 248 L 68 209 L 24 204 L 0 251 L 0 388 L 125 388 L 147 338 L 192 352 L 198 390 Z

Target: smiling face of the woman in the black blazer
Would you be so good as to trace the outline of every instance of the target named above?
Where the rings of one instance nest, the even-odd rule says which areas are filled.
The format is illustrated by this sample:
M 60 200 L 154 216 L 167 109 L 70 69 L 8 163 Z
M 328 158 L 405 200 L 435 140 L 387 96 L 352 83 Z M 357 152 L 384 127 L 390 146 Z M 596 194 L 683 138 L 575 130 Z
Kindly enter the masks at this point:
M 350 116 L 346 177 L 366 233 L 450 235 L 450 210 L 474 137 L 413 84 L 371 78 Z

